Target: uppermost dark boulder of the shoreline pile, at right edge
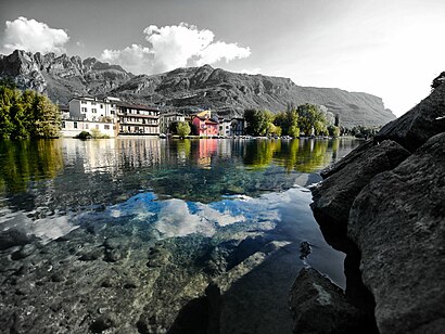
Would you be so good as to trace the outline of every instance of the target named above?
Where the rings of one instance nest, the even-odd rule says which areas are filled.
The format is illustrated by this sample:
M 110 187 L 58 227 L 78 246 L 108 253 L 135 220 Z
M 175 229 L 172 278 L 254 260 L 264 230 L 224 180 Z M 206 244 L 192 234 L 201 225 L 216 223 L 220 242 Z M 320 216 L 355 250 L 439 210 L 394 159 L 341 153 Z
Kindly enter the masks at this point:
M 391 139 L 414 152 L 431 137 L 444 132 L 445 85 L 442 77 L 434 81 L 433 91 L 428 98 L 402 117 L 385 125 L 374 139 Z

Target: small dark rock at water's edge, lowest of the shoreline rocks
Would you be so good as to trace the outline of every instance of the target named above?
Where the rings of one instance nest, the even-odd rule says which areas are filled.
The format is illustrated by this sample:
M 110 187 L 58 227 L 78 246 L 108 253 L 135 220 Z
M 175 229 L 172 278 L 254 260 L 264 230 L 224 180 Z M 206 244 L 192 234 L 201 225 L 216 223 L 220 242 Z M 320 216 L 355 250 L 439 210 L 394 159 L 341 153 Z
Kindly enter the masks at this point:
M 376 333 L 372 317 L 352 305 L 339 286 L 312 268 L 300 271 L 290 307 L 294 333 Z

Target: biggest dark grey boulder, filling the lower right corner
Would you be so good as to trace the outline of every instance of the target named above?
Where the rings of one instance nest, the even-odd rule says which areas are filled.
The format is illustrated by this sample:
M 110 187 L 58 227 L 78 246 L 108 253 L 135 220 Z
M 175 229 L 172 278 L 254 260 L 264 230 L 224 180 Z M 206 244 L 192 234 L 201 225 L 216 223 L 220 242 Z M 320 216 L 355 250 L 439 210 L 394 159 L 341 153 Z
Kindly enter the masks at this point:
M 445 333 L 445 133 L 378 175 L 351 209 L 381 333 Z

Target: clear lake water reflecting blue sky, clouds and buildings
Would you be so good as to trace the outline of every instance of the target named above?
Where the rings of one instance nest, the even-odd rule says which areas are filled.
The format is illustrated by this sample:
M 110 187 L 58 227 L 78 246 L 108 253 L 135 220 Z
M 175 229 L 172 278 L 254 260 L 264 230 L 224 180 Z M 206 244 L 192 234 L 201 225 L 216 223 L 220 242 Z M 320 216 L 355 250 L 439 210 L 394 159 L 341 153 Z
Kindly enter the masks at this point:
M 301 268 L 344 286 L 307 187 L 358 144 L 0 142 L 0 231 L 18 233 L 0 251 L 0 329 L 291 333 Z

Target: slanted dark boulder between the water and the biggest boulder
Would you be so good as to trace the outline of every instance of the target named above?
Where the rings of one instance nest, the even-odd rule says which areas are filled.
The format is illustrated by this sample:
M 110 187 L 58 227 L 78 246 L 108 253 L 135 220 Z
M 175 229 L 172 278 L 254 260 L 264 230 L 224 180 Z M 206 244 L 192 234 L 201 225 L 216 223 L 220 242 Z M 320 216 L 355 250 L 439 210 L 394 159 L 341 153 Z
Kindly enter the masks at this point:
M 320 224 L 346 234 L 349 208 L 361 189 L 376 175 L 393 169 L 409 156 L 408 151 L 390 140 L 367 149 L 313 188 L 310 206 Z

